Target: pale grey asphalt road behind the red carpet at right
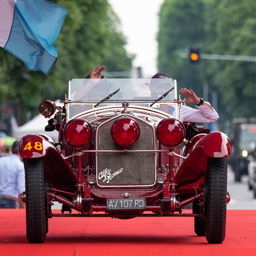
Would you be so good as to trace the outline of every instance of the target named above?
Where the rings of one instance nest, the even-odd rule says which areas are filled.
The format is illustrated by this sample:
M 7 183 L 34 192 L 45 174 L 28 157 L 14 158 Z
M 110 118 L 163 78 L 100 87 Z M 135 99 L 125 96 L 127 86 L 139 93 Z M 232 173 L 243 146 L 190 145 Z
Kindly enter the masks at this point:
M 231 194 L 227 209 L 256 209 L 256 199 L 253 199 L 253 192 L 248 189 L 248 176 L 244 175 L 241 182 L 235 182 L 233 172 L 228 169 L 227 190 Z M 61 209 L 61 206 L 54 202 L 52 209 Z

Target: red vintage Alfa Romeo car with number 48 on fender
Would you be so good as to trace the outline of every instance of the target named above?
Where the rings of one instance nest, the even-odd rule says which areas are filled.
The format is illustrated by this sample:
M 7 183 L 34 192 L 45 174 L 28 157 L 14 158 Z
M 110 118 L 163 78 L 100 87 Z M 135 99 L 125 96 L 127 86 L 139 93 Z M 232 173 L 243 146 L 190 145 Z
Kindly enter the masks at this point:
M 225 238 L 226 134 L 181 122 L 173 79 L 73 79 L 63 107 L 39 106 L 44 134 L 20 140 L 26 236 L 42 243 L 48 218 L 187 216 L 209 243 Z M 52 204 L 62 204 L 52 213 Z M 183 208 L 192 205 L 191 213 Z

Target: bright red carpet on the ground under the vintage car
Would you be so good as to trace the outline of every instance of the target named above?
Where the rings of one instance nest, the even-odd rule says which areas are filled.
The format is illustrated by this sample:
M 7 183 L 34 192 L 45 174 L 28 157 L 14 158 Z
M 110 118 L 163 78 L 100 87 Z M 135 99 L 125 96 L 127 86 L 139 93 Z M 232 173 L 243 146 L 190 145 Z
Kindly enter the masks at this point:
M 23 209 L 0 209 L 0 256 L 256 255 L 256 210 L 228 210 L 222 244 L 196 236 L 192 217 L 55 217 L 44 244 L 28 243 L 25 221 Z

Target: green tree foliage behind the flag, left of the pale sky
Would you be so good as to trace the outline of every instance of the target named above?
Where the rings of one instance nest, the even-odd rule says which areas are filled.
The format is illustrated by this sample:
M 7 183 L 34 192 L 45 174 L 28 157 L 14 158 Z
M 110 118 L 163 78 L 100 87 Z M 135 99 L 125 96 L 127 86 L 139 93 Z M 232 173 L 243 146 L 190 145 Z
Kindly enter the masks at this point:
M 107 0 L 52 0 L 68 10 L 55 46 L 58 61 L 48 76 L 30 71 L 23 62 L 0 49 L 0 102 L 20 100 L 26 111 L 38 114 L 45 99 L 64 99 L 67 83 L 84 78 L 93 67 L 105 65 L 107 71 L 131 70 L 133 56 L 125 51 L 125 38 L 119 20 Z

